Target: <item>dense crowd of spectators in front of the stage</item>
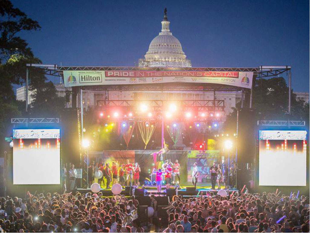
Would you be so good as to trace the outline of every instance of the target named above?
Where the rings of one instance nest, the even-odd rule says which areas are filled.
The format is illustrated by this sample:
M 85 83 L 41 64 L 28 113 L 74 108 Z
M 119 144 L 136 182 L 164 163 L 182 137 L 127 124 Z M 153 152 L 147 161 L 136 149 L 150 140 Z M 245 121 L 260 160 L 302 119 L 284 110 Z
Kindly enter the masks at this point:
M 28 192 L 25 198 L 2 197 L 0 205 L 0 226 L 5 232 L 144 232 L 154 222 L 167 223 L 161 226 L 163 232 L 309 232 L 309 197 L 297 194 L 222 197 L 201 192 L 192 198 L 173 196 L 166 207 L 159 207 L 151 195 L 149 208 L 154 208 L 154 214 L 143 224 L 144 213 L 139 212 L 135 197 Z M 134 211 L 141 218 L 135 219 Z M 158 231 L 161 227 L 157 226 Z

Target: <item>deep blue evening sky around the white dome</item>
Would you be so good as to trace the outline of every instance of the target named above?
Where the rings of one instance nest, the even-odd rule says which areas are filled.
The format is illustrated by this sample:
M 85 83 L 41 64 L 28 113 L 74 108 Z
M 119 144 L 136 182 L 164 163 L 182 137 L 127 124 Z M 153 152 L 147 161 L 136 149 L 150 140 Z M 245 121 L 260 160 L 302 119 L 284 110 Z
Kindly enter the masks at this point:
M 309 92 L 309 1 L 12 3 L 41 25 L 19 36 L 44 64 L 135 66 L 160 32 L 167 7 L 170 31 L 192 66 L 289 65 L 294 91 Z

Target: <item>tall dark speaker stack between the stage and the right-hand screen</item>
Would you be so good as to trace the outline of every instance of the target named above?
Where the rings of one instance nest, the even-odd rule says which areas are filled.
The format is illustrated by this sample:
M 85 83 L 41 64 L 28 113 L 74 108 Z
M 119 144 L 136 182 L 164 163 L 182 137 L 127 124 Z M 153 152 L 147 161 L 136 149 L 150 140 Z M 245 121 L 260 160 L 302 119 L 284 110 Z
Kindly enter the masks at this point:
M 237 162 L 253 163 L 255 159 L 255 112 L 238 110 Z

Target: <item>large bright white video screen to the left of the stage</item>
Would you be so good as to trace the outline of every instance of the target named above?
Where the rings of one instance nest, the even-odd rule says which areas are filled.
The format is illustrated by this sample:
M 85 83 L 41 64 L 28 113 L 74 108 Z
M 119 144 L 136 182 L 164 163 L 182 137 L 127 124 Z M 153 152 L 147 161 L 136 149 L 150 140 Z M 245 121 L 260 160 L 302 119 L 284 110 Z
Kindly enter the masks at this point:
M 60 184 L 60 129 L 14 129 L 13 143 L 13 185 Z

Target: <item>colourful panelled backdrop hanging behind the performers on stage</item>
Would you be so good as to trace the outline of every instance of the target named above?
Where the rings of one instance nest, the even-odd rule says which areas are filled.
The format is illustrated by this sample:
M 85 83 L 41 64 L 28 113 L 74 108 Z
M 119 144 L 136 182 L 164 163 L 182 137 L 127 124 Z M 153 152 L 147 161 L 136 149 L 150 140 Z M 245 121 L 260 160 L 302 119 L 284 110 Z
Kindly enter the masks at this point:
M 90 152 L 90 161 L 99 161 L 100 158 L 103 162 L 118 161 L 120 164 L 125 163 L 129 159 L 131 163 L 138 162 L 141 167 L 140 183 L 144 182 L 145 178 L 151 179 L 151 172 L 153 167 L 161 167 L 163 161 L 170 159 L 172 163 L 178 159 L 181 165 L 180 178 L 181 183 L 186 184 L 191 182 L 192 170 L 194 162 L 198 163 L 199 177 L 198 182 L 210 182 L 209 168 L 214 161 L 219 159 L 219 150 L 170 150 L 161 156 L 157 155 L 157 162 L 154 163 L 153 153 L 155 150 L 107 150 L 102 152 Z

